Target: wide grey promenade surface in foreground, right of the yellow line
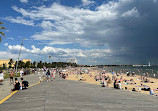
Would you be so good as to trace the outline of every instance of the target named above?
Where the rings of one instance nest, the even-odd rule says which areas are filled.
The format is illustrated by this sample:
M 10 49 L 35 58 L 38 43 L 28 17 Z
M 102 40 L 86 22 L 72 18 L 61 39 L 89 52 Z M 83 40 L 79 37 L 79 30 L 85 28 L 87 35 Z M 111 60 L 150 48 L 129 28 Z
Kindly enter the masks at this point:
M 85 82 L 42 81 L 0 105 L 2 111 L 158 111 L 158 98 Z

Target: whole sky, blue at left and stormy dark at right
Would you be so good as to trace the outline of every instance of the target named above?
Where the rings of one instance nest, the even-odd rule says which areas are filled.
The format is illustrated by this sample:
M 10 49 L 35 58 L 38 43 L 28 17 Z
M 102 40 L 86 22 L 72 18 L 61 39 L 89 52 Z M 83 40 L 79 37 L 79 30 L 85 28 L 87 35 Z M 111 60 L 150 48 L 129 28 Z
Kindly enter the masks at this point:
M 0 59 L 158 64 L 158 0 L 3 0 Z M 52 58 L 48 58 L 51 56 Z

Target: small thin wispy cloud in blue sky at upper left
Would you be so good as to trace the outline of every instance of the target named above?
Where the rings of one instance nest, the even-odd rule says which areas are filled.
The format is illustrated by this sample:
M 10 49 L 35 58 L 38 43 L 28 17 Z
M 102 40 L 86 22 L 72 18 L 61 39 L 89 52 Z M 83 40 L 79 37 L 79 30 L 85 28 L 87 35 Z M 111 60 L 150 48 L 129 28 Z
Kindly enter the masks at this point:
M 34 26 L 33 20 L 28 21 L 28 20 L 25 20 L 23 17 L 16 17 L 16 18 L 6 17 L 4 19 L 8 20 L 8 21 L 10 21 L 12 23 L 18 23 L 18 24 Z

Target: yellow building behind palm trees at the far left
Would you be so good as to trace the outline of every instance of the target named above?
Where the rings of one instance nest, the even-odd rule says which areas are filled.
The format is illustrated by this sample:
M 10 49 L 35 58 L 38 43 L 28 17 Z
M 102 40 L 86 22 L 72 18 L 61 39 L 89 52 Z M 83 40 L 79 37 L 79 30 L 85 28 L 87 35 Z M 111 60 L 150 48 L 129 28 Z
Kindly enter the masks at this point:
M 31 62 L 31 59 L 23 59 L 22 61 L 23 61 L 24 63 L 26 63 L 27 61 L 30 61 L 30 62 Z M 3 60 L 0 60 L 0 67 L 3 67 L 3 64 L 5 64 L 5 67 L 9 67 L 9 64 L 8 64 L 9 62 L 10 62 L 10 59 L 3 59 Z M 15 62 L 16 62 L 16 61 L 13 61 L 12 67 L 14 67 Z

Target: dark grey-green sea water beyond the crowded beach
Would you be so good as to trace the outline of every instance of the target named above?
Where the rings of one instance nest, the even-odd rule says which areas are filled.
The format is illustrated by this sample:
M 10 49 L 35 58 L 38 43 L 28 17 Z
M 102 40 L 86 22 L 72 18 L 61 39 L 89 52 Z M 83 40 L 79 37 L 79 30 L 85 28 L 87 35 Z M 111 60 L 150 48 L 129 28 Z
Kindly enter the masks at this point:
M 104 67 L 103 70 L 107 71 L 114 71 L 117 73 L 123 72 L 126 73 L 127 71 L 132 73 L 135 72 L 137 75 L 142 75 L 143 73 L 148 72 L 149 77 L 154 77 L 155 74 L 156 78 L 158 78 L 158 66 L 144 66 L 144 67 L 136 67 L 136 66 L 114 66 L 114 67 Z

